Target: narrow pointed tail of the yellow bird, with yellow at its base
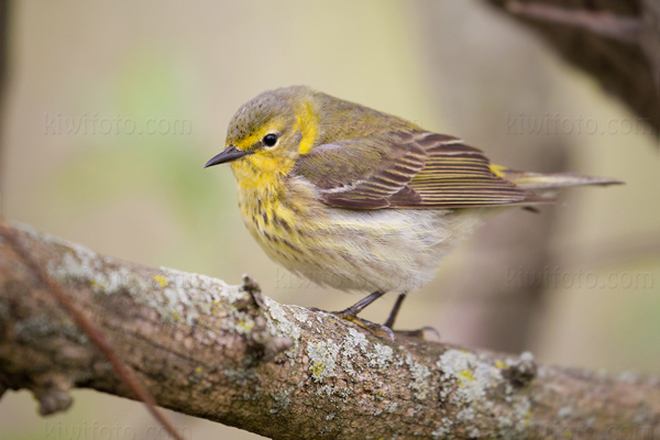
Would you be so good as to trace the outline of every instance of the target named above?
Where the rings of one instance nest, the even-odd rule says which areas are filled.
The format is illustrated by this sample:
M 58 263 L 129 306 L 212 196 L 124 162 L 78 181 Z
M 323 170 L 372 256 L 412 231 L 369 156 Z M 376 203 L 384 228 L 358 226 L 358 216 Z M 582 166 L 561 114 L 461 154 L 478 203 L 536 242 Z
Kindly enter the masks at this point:
M 620 185 L 622 180 L 573 173 L 527 173 L 491 165 L 491 170 L 525 189 L 551 189 L 579 185 Z

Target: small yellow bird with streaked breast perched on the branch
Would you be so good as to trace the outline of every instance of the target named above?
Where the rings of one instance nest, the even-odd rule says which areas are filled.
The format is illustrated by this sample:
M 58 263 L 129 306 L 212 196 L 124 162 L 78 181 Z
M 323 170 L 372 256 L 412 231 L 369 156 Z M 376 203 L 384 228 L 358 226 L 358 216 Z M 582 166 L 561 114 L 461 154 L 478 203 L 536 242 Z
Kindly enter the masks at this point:
M 205 167 L 224 163 L 263 251 L 320 286 L 369 293 L 334 314 L 391 334 L 406 295 L 490 217 L 557 204 L 554 188 L 620 183 L 509 169 L 459 138 L 306 86 L 244 103 Z M 384 324 L 358 317 L 386 293 L 398 297 Z

